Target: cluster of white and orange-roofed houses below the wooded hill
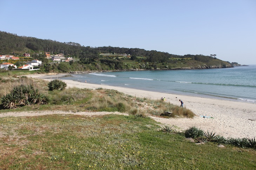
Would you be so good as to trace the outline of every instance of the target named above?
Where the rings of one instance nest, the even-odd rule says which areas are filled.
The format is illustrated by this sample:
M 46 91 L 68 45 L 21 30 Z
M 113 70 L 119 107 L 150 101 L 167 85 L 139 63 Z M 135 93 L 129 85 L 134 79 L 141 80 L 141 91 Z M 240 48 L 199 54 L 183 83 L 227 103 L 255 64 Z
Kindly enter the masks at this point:
M 66 58 L 62 53 L 51 55 L 49 52 L 45 52 L 45 54 L 49 62 L 69 62 L 73 60 L 72 57 Z M 0 68 L 6 70 L 26 69 L 32 71 L 39 70 L 40 66 L 42 65 L 42 61 L 39 61 L 38 59 L 33 59 L 29 53 L 24 53 L 22 57 L 0 55 L 0 63 Z M 17 67 L 17 65 L 19 67 Z

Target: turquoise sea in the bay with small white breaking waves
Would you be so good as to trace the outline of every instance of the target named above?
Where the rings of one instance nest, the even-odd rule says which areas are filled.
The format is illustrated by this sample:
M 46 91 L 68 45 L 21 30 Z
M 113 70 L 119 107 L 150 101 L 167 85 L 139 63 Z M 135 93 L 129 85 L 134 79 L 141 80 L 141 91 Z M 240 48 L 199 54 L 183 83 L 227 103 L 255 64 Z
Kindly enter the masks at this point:
M 256 102 L 256 65 L 200 70 L 71 74 L 59 79 L 161 93 Z

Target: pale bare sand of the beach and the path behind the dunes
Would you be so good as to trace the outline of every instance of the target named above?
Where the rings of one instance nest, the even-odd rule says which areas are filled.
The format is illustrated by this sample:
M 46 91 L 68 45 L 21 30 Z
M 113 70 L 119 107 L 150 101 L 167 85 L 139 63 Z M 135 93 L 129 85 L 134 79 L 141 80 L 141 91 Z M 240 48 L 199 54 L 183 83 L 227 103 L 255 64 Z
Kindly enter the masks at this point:
M 32 78 L 43 78 L 45 75 L 27 75 L 27 77 Z M 50 80 L 50 79 L 45 79 Z M 67 87 L 77 87 L 77 88 L 104 88 L 104 89 L 114 89 L 120 91 L 124 94 L 133 95 L 136 97 L 146 97 L 149 99 L 160 99 L 165 97 L 166 102 L 170 102 L 176 105 L 180 105 L 179 99 L 184 102 L 184 106 L 187 109 L 193 111 L 196 116 L 192 119 L 189 118 L 159 118 L 153 117 L 154 120 L 166 124 L 166 125 L 175 125 L 180 130 L 186 130 L 191 126 L 196 126 L 201 128 L 204 131 L 214 131 L 219 135 L 223 135 L 225 138 L 245 138 L 245 137 L 256 137 L 256 104 L 255 103 L 245 103 L 245 102 L 236 102 L 236 101 L 226 101 L 220 99 L 211 99 L 203 97 L 193 97 L 185 95 L 176 95 L 176 94 L 166 94 L 158 93 L 152 91 L 144 91 L 123 87 L 114 87 L 106 86 L 99 84 L 90 84 L 76 82 L 72 80 L 63 80 L 67 83 Z M 53 114 L 52 112 L 44 113 L 22 113 L 19 114 L 23 116 L 34 116 L 41 114 Z M 83 115 L 96 115 L 96 114 L 108 114 L 106 112 L 82 112 L 82 113 L 73 113 L 73 112 L 54 112 L 60 114 L 83 114 Z M 4 113 L 0 117 L 4 116 L 15 116 L 15 113 Z M 213 118 L 204 118 L 202 116 L 213 117 Z

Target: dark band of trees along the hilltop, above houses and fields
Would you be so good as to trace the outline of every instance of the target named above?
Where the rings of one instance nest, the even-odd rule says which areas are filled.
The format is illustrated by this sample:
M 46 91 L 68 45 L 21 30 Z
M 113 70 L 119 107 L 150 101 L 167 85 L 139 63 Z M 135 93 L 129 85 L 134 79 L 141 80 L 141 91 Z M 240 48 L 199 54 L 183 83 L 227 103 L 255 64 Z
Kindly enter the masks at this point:
M 79 43 L 74 42 L 58 42 L 50 39 L 39 39 L 34 37 L 18 36 L 8 32 L 0 31 L 0 54 L 9 54 L 17 52 L 26 52 L 26 48 L 34 51 L 34 53 L 50 52 L 52 54 L 64 53 L 64 55 L 70 55 L 76 58 L 96 58 L 101 53 L 120 53 L 130 54 L 131 56 L 147 56 L 149 62 L 168 62 L 169 58 L 184 58 L 194 57 L 195 60 L 202 60 L 201 55 L 175 55 L 167 52 L 159 52 L 155 50 L 144 50 L 139 48 L 124 48 L 124 47 L 90 47 L 81 46 Z M 24 51 L 25 50 L 25 51 Z M 215 55 L 216 56 L 216 55 Z M 205 57 L 205 56 L 203 56 Z M 208 60 L 213 59 L 211 56 L 207 56 Z

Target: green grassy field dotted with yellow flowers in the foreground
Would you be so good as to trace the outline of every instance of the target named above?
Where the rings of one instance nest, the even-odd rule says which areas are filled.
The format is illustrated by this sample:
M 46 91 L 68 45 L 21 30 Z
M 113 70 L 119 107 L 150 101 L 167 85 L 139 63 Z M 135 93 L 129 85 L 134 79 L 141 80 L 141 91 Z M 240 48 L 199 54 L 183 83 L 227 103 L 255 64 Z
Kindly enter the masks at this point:
M 256 151 L 195 145 L 149 118 L 0 118 L 0 169 L 255 169 Z

